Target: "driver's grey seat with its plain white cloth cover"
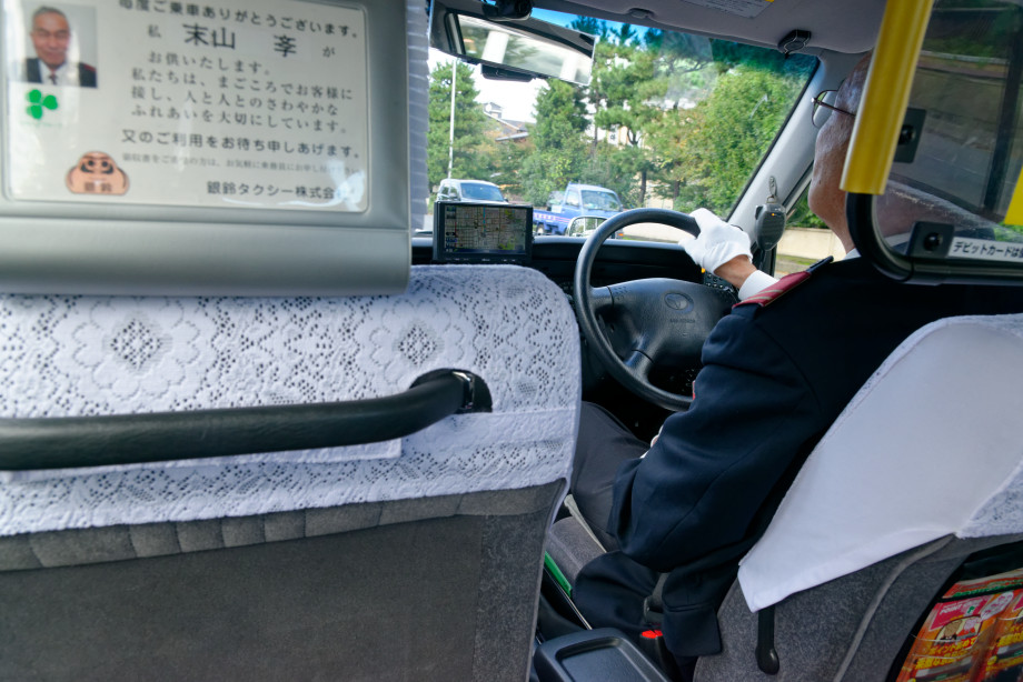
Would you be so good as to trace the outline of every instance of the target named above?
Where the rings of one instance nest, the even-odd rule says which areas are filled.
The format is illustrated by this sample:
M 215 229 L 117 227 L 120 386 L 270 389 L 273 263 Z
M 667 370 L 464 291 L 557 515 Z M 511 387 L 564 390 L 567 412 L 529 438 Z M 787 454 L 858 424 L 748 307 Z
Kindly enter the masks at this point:
M 723 652 L 698 660 L 696 682 L 885 679 L 964 561 L 1023 541 L 1021 384 L 1023 314 L 938 320 L 904 341 L 743 560 L 718 611 Z M 547 551 L 574 582 L 603 549 L 568 516 Z

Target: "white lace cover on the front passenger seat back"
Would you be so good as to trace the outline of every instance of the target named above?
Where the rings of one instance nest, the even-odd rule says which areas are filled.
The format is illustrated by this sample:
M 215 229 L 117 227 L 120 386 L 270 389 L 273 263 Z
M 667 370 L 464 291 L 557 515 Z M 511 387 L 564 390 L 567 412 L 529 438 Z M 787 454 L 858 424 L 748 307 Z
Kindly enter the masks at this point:
M 580 400 L 564 293 L 517 267 L 417 267 L 352 298 L 0 297 L 0 417 L 393 395 L 437 369 L 481 377 L 491 413 L 401 441 L 0 473 L 0 535 L 518 489 L 567 479 Z

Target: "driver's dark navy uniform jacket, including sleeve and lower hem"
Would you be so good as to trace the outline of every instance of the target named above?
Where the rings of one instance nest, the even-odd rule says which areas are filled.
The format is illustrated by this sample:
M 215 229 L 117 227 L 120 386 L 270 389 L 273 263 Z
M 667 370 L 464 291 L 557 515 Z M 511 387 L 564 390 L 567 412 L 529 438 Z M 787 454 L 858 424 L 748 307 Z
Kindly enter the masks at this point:
M 1006 312 L 1023 312 L 1023 288 L 902 284 L 863 259 L 815 268 L 766 305 L 737 305 L 704 344 L 692 408 L 665 421 L 645 458 L 619 468 L 608 528 L 622 551 L 585 566 L 573 598 L 584 613 L 605 614 L 602 624 L 636 634 L 657 572 L 671 572 L 668 649 L 716 653 L 715 613 L 738 560 L 874 370 L 928 322 Z

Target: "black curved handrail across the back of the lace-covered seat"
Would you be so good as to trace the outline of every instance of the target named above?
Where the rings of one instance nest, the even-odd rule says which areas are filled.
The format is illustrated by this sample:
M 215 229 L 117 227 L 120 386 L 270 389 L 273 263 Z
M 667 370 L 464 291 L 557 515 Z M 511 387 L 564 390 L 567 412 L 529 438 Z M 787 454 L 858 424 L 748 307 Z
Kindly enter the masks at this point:
M 404 438 L 451 414 L 489 412 L 470 372 L 438 370 L 404 393 L 319 403 L 102 417 L 0 419 L 0 470 L 190 460 Z

